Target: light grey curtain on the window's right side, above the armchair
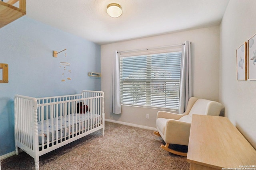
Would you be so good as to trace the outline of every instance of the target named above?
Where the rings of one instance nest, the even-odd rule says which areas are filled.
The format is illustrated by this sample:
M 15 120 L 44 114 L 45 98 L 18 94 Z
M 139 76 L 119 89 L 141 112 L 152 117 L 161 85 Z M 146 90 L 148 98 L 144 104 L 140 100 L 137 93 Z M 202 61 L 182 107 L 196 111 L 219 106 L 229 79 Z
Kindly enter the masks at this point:
M 185 41 L 182 45 L 180 72 L 180 106 L 179 113 L 184 113 L 187 108 L 188 100 L 192 97 L 192 79 L 191 79 L 191 52 L 190 41 Z

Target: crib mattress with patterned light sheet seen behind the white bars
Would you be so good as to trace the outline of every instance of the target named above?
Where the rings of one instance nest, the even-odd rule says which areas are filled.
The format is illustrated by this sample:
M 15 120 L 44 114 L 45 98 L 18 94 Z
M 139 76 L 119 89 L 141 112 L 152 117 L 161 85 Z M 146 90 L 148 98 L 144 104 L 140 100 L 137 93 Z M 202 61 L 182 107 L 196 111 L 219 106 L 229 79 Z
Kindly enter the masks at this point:
M 86 129 L 93 124 L 96 124 L 100 121 L 100 115 L 96 115 L 93 113 L 74 113 L 70 115 L 66 115 L 62 117 L 58 117 L 58 121 L 56 118 L 48 119 L 47 121 L 43 121 L 43 133 L 42 133 L 42 121 L 38 121 L 38 141 L 39 145 L 42 145 L 42 138 L 43 143 L 47 143 L 57 139 L 56 130 L 58 128 L 58 139 L 61 137 L 68 137 L 72 135 L 72 133 L 77 133 L 80 130 Z M 52 123 L 53 122 L 53 123 Z M 53 126 L 52 126 L 53 125 Z M 47 128 L 48 127 L 48 128 Z M 48 129 L 48 131 L 47 131 Z M 53 129 L 53 131 L 52 131 Z M 53 132 L 53 134 L 52 134 Z M 62 135 L 60 135 L 62 133 Z

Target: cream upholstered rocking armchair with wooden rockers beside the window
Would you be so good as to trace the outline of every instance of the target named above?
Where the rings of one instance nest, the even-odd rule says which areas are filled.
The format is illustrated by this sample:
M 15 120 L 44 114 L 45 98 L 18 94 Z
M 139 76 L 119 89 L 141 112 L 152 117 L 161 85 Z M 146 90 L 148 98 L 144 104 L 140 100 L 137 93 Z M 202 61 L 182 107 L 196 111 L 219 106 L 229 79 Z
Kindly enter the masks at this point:
M 186 152 L 180 152 L 169 148 L 170 144 L 188 146 L 190 124 L 193 114 L 219 116 L 222 104 L 210 100 L 192 97 L 183 114 L 158 111 L 156 117 L 156 129 L 154 134 L 162 137 L 166 145 L 161 148 L 181 156 L 187 156 Z

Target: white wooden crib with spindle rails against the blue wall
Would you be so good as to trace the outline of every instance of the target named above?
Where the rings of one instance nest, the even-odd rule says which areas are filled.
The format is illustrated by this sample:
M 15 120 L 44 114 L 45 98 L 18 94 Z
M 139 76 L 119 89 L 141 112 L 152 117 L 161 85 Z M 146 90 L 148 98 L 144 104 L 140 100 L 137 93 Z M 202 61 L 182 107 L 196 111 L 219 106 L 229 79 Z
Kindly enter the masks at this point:
M 104 92 L 14 99 L 15 147 L 35 159 L 39 156 L 102 129 L 104 136 Z

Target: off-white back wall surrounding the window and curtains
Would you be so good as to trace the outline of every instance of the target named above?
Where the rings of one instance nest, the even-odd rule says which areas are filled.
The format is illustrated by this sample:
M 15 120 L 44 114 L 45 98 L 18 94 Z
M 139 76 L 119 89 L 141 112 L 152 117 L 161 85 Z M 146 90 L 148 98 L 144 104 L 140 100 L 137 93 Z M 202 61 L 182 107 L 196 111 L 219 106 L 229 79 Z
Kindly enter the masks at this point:
M 118 123 L 154 128 L 158 109 L 122 106 L 122 113 L 110 113 L 110 83 L 114 51 L 144 49 L 192 42 L 192 95 L 208 100 L 219 99 L 219 26 L 169 33 L 154 37 L 101 46 L 101 88 L 105 92 L 105 117 Z M 150 119 L 146 119 L 146 114 Z

